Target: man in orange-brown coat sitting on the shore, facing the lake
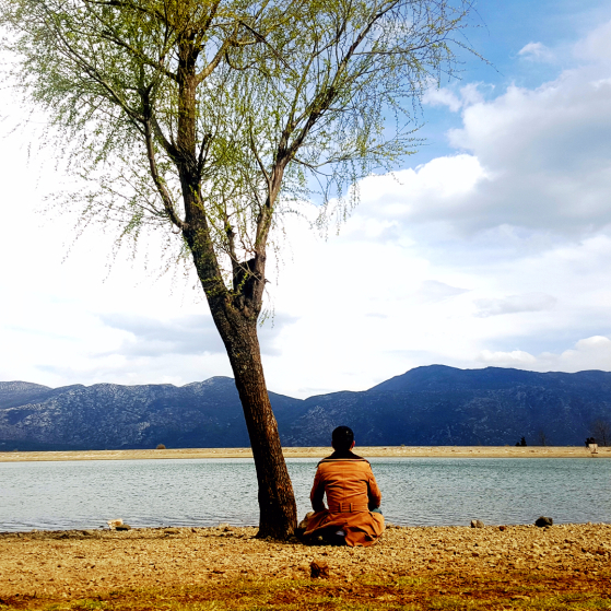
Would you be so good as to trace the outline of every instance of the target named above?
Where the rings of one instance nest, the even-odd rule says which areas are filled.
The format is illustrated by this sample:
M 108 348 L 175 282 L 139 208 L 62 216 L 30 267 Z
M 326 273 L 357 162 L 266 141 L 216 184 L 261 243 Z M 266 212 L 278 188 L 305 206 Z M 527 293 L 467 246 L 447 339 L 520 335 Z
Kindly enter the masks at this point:
M 314 478 L 309 498 L 315 513 L 304 537 L 321 534 L 331 543 L 371 545 L 384 532 L 381 494 L 372 466 L 352 453 L 354 433 L 348 426 L 333 431 L 331 445 L 336 451 L 318 463 Z

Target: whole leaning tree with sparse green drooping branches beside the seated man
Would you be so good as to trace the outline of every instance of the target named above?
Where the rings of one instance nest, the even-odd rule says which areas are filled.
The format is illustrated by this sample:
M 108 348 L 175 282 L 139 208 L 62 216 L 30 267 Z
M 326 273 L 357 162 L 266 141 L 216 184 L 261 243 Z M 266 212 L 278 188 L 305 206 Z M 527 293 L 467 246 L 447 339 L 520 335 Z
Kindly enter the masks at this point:
M 260 359 L 268 249 L 317 198 L 320 224 L 413 146 L 419 101 L 456 66 L 457 0 L 0 0 L 12 79 L 49 117 L 84 225 L 165 230 L 192 261 L 234 372 L 259 536 L 296 526 Z M 337 205 L 331 205 L 336 202 Z

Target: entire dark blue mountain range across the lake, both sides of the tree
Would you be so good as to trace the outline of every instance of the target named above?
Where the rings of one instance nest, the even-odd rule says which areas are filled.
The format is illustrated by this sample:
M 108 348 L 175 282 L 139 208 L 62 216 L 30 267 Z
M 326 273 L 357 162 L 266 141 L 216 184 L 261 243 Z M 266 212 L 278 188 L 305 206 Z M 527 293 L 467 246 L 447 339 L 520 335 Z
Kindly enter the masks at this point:
M 416 367 L 362 392 L 293 399 L 270 392 L 282 443 L 326 446 L 334 426 L 360 445 L 581 445 L 611 423 L 611 373 Z M 244 447 L 232 378 L 183 387 L 0 383 L 0 451 Z

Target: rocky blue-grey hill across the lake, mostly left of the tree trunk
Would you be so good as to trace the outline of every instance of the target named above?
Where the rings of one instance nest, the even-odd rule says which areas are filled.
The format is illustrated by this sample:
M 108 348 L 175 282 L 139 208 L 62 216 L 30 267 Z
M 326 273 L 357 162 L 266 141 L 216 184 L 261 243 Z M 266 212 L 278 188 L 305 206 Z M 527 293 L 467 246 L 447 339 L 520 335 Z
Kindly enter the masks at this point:
M 27 400 L 17 404 L 20 393 Z M 287 412 L 297 415 L 292 408 L 303 403 L 273 392 L 270 398 L 279 422 Z M 55 390 L 0 383 L 0 450 L 150 448 L 160 443 L 248 446 L 234 380 L 213 377 L 180 388 L 96 384 Z

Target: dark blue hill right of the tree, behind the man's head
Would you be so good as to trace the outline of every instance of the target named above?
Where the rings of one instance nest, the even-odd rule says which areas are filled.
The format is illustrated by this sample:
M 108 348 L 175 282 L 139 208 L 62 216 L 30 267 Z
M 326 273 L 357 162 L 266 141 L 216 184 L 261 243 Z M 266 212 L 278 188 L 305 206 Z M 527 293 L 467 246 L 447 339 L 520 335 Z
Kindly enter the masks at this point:
M 349 423 L 363 445 L 581 445 L 597 419 L 611 423 L 611 373 L 539 374 L 487 367 L 416 367 L 364 392 L 305 401 L 284 432 L 291 445 L 318 445 Z

